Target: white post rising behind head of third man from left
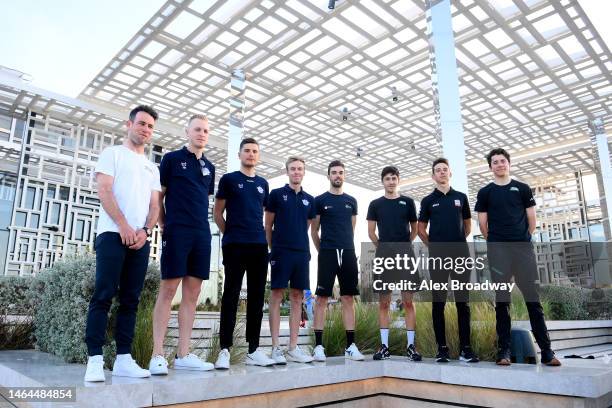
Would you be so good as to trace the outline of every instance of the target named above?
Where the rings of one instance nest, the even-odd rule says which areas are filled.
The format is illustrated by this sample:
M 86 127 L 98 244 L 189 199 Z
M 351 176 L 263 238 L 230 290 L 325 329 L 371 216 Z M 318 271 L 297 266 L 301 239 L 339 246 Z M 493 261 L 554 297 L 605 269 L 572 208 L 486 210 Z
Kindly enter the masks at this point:
M 227 172 L 240 170 L 238 150 L 243 136 L 244 127 L 244 89 L 246 76 L 244 70 L 235 69 L 231 76 L 229 98 L 229 132 L 227 135 Z

